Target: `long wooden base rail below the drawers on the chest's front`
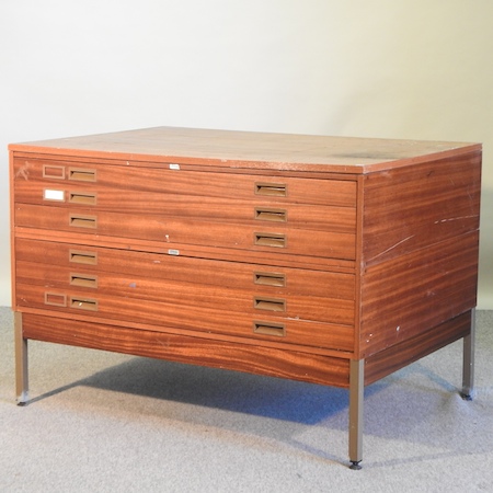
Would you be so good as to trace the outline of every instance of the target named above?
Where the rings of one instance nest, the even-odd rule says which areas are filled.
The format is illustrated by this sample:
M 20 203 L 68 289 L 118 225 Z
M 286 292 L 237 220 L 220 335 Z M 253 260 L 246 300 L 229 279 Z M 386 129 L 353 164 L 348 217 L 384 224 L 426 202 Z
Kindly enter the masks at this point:
M 348 359 L 23 314 L 23 335 L 73 346 L 347 388 Z

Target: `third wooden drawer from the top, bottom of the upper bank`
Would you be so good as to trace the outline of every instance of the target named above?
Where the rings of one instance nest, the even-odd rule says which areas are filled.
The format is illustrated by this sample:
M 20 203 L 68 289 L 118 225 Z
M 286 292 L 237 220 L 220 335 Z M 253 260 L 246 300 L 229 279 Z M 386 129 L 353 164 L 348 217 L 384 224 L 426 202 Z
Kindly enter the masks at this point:
M 297 229 L 278 222 L 233 225 L 28 204 L 15 204 L 14 221 L 16 227 L 156 241 L 170 249 L 188 244 L 344 260 L 354 260 L 356 249 L 355 231 Z

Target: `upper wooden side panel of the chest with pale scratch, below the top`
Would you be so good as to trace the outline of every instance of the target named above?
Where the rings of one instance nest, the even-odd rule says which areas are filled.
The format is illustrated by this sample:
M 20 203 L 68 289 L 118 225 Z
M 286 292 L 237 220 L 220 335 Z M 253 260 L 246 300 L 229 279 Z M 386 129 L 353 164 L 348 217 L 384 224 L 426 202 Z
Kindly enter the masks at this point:
M 369 173 L 365 266 L 478 230 L 480 194 L 481 151 Z

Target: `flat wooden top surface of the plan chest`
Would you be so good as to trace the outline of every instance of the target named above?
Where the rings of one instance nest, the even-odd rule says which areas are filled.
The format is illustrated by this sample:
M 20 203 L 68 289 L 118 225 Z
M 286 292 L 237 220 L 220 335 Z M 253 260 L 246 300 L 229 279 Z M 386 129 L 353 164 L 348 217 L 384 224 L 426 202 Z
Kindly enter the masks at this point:
M 481 145 L 156 127 L 12 144 L 9 149 L 220 168 L 366 173 L 481 151 Z

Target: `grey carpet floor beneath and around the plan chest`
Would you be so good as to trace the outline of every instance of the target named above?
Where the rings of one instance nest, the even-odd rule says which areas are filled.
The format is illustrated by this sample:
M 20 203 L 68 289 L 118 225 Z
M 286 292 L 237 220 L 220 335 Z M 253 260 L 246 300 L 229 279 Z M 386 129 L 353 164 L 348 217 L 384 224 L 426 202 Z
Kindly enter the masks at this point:
M 472 402 L 461 342 L 365 389 L 360 471 L 342 389 L 30 342 L 18 406 L 0 323 L 1 492 L 493 492 L 493 311 Z

